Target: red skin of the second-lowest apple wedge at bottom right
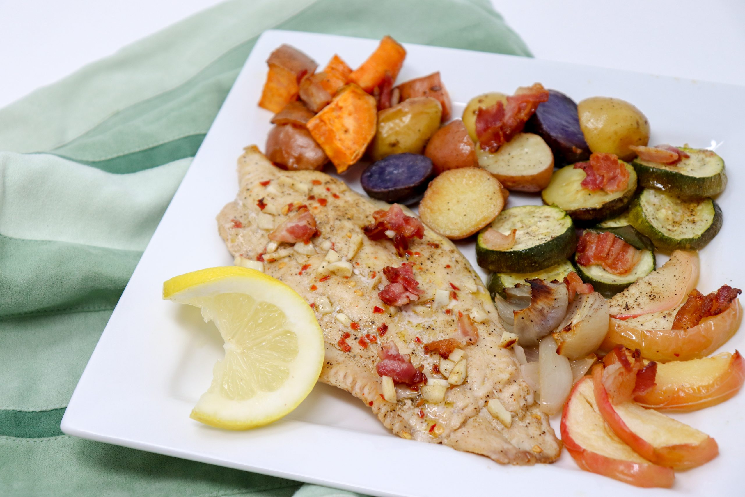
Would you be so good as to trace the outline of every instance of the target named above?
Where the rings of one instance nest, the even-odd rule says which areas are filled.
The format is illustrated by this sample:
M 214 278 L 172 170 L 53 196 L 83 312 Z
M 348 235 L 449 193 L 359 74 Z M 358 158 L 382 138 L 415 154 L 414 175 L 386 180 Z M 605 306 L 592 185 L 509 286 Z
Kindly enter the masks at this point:
M 719 446 L 717 446 L 716 440 L 711 437 L 697 445 L 653 446 L 631 431 L 613 408 L 608 392 L 603 386 L 603 367 L 600 364 L 595 364 L 595 367 L 592 368 L 592 382 L 595 389 L 595 402 L 597 402 L 597 408 L 603 415 L 603 419 L 606 420 L 618 438 L 624 440 L 627 446 L 634 449 L 642 458 L 671 469 L 691 469 L 701 466 L 703 463 L 708 463 L 719 454 Z

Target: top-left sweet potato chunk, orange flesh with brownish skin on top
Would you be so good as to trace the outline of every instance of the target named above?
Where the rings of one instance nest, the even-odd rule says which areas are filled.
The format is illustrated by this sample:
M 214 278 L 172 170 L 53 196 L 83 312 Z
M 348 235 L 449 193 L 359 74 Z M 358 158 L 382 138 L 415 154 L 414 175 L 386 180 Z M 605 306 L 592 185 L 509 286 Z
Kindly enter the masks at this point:
M 267 64 L 269 72 L 259 107 L 273 113 L 297 99 L 300 80 L 305 75 L 312 75 L 318 66 L 313 59 L 290 45 L 282 45 L 273 51 Z

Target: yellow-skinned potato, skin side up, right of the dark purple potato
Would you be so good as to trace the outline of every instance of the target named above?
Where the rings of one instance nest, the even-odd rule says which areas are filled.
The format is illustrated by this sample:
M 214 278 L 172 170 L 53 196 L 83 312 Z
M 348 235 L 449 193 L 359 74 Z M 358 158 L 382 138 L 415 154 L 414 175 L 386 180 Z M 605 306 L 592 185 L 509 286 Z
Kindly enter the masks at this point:
M 620 98 L 591 97 L 577 104 L 580 127 L 592 152 L 615 153 L 621 160 L 636 156 L 630 145 L 647 145 L 650 124 L 632 104 Z

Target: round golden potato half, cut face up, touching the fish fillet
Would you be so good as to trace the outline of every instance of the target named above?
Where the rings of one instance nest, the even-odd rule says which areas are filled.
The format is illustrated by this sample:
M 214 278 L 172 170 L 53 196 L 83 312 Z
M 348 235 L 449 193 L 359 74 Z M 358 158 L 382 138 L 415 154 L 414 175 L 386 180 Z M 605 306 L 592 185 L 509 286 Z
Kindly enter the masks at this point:
M 504 207 L 501 184 L 481 168 L 444 171 L 429 183 L 419 217 L 440 235 L 460 240 L 494 221 Z

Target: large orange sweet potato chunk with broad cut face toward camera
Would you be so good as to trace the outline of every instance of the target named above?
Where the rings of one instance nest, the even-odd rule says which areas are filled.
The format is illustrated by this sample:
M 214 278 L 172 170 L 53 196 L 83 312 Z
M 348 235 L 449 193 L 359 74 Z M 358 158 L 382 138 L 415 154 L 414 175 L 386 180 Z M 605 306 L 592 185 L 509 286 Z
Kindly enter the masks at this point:
M 375 98 L 349 84 L 306 124 L 337 172 L 346 171 L 357 162 L 375 136 L 376 107 Z

